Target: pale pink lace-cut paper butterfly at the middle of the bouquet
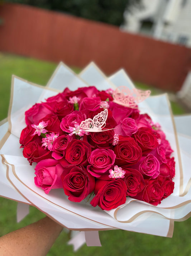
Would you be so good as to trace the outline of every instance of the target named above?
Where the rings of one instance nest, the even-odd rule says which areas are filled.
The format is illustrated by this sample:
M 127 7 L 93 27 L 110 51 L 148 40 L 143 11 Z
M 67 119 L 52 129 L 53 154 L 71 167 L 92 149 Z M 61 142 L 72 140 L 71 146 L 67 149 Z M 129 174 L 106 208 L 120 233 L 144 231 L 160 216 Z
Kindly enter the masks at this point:
M 100 132 L 102 127 L 105 126 L 106 120 L 108 118 L 108 109 L 101 111 L 99 114 L 93 117 L 93 119 L 88 118 L 80 123 L 80 128 L 88 132 Z

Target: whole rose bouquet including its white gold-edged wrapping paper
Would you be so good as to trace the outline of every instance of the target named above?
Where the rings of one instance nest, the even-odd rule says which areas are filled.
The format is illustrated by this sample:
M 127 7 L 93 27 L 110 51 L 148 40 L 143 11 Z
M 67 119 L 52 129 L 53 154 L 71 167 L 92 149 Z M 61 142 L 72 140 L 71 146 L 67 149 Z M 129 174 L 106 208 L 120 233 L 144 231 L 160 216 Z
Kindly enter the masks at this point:
M 80 75 L 60 63 L 45 87 L 13 76 L 0 196 L 19 202 L 18 219 L 33 205 L 94 246 L 97 230 L 172 237 L 191 212 L 191 118 L 148 95 L 94 63 Z

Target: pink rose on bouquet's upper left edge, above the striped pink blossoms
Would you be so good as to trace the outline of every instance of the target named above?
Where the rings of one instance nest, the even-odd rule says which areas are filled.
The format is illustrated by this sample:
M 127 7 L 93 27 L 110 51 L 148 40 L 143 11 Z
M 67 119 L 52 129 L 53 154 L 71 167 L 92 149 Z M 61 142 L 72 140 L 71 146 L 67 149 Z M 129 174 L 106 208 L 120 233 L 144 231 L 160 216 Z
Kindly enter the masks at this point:
M 47 108 L 43 104 L 36 103 L 32 108 L 25 112 L 25 122 L 27 125 L 38 125 L 43 117 L 51 113 L 51 109 Z

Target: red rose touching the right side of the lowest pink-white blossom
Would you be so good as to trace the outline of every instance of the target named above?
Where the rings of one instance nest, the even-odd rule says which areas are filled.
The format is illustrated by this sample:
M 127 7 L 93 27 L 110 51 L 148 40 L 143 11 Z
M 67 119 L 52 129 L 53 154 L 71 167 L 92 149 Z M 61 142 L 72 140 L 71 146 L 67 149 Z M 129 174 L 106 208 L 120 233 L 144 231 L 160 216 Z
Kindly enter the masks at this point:
M 123 170 L 125 171 L 124 181 L 127 186 L 126 196 L 136 196 L 145 186 L 143 175 L 135 169 L 123 168 Z

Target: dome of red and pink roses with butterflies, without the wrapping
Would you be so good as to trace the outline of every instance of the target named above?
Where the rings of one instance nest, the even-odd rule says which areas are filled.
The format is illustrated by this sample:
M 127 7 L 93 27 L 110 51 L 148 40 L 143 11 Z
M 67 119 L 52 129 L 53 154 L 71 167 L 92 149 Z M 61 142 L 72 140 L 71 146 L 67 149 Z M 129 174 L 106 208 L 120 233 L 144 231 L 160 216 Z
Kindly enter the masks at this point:
M 149 91 L 94 86 L 52 96 L 25 112 L 20 144 L 34 183 L 73 202 L 111 210 L 126 197 L 158 205 L 174 189 L 175 161 L 161 126 L 137 103 Z M 89 196 L 90 195 L 90 196 Z

